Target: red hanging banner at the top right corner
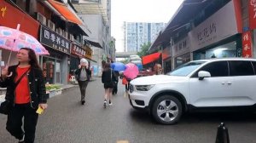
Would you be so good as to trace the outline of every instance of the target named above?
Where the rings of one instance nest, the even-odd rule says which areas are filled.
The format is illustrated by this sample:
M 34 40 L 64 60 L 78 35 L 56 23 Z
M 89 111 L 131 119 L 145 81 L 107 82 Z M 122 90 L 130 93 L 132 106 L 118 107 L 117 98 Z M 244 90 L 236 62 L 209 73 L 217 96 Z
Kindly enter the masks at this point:
M 256 0 L 249 0 L 249 27 L 256 29 Z

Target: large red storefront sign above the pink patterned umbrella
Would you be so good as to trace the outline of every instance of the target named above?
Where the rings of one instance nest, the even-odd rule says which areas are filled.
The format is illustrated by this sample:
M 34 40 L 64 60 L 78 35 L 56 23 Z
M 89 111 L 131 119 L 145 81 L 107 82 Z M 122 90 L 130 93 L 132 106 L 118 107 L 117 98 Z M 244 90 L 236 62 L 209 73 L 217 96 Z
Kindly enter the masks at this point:
M 5 1 L 0 1 L 0 26 L 16 29 L 20 24 L 20 31 L 24 31 L 38 38 L 39 22 L 30 15 L 21 12 Z

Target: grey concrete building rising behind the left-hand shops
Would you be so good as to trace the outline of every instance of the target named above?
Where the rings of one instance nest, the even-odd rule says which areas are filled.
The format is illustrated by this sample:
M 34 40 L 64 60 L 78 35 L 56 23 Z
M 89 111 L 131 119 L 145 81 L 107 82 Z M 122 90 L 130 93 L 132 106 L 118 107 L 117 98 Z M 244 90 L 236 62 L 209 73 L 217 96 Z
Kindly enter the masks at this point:
M 111 38 L 111 0 L 77 0 L 73 1 L 77 14 L 90 29 L 85 42 L 93 50 L 91 66 L 95 76 L 102 73 L 102 60 L 113 59 L 110 49 Z M 97 43 L 96 45 L 93 43 Z

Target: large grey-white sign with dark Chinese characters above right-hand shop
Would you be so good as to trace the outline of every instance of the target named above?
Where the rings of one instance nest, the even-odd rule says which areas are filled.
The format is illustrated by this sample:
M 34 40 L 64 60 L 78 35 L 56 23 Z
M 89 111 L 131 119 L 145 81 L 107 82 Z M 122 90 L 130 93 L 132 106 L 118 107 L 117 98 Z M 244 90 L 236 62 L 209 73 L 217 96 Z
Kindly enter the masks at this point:
M 233 1 L 212 14 L 207 20 L 189 31 L 191 51 L 217 43 L 238 33 Z

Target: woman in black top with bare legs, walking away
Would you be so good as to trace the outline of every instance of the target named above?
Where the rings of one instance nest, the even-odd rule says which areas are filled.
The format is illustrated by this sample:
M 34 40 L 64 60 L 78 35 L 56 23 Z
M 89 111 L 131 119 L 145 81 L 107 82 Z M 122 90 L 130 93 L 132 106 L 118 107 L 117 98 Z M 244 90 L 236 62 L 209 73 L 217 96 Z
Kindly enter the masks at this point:
M 107 106 L 107 100 L 109 100 L 109 106 L 112 106 L 112 90 L 113 90 L 113 83 L 116 82 L 116 77 L 113 73 L 113 70 L 110 68 L 110 64 L 106 63 L 105 68 L 102 72 L 102 83 L 104 83 L 104 108 Z

